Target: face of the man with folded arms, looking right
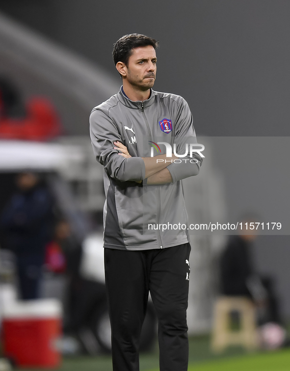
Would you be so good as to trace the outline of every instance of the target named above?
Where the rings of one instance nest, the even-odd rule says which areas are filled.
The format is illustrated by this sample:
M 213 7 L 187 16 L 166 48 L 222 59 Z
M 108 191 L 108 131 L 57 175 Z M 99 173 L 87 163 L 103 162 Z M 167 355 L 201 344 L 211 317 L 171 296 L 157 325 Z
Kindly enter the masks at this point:
M 148 90 L 155 83 L 156 53 L 153 46 L 139 47 L 132 50 L 128 66 L 125 66 L 126 79 L 140 90 Z

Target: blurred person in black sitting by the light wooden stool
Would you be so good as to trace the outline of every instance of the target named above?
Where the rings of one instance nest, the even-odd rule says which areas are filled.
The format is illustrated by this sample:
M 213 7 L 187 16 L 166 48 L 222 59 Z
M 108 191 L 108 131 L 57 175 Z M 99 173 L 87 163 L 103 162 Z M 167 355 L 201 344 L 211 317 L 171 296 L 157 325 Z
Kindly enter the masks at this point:
M 220 258 L 221 291 L 227 296 L 246 296 L 253 300 L 257 308 L 258 324 L 280 323 L 277 299 L 272 287 L 273 280 L 257 273 L 252 257 L 252 244 L 257 234 L 256 228 L 249 227 L 250 223 L 255 222 L 255 217 L 241 218 L 240 234 L 229 236 Z

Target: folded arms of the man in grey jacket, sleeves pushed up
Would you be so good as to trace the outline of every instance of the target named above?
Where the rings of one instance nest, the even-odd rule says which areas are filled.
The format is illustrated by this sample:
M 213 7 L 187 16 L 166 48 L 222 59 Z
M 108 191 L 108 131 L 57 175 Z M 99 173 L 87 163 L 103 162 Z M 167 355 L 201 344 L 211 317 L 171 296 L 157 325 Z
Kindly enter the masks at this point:
M 90 116 L 90 135 L 97 161 L 112 178 L 121 182 L 141 183 L 146 178 L 147 184 L 176 182 L 197 175 L 202 163 L 202 157 L 197 153 L 193 153 L 193 157 L 187 155 L 182 158 L 182 163 L 172 163 L 171 160 L 179 158 L 174 154 L 170 162 L 165 154 L 155 157 L 132 157 L 127 147 L 121 143 L 122 138 L 115 123 L 99 109 L 93 111 Z M 186 143 L 196 143 L 192 116 L 184 99 L 179 102 L 175 143 L 177 153 L 184 153 Z

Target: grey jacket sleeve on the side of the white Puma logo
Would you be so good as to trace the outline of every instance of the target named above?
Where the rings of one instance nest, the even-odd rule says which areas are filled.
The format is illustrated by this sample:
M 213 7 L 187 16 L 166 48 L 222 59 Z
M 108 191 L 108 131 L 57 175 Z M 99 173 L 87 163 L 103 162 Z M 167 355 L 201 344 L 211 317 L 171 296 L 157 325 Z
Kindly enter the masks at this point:
M 124 158 L 114 149 L 114 142 L 123 142 L 116 124 L 101 110 L 90 115 L 90 136 L 97 161 L 116 180 L 140 181 L 145 177 L 145 164 L 141 157 Z

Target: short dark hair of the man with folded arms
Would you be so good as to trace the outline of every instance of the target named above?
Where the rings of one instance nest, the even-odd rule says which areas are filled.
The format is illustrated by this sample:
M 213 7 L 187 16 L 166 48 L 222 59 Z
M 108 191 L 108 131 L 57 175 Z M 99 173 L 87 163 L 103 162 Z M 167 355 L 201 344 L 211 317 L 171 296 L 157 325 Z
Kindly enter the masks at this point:
M 126 64 L 126 66 L 128 66 L 128 61 L 132 54 L 132 49 L 148 45 L 151 45 L 154 49 L 156 49 L 158 48 L 158 41 L 139 33 L 131 33 L 130 35 L 122 36 L 114 44 L 113 59 L 115 65 L 118 62 L 123 62 Z

